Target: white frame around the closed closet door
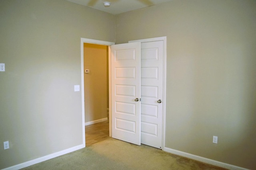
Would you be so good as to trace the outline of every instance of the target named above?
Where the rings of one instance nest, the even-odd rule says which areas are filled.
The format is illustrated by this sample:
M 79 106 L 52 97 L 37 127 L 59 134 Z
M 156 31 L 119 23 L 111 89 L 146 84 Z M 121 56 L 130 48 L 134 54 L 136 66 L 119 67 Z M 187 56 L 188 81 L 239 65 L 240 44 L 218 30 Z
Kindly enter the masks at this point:
M 152 41 L 163 41 L 164 42 L 164 60 L 163 60 L 163 118 L 162 118 L 162 150 L 165 147 L 165 123 L 166 123 L 166 36 L 165 37 L 156 37 L 148 39 L 138 39 L 133 41 L 128 41 L 129 43 L 141 42 L 148 43 Z

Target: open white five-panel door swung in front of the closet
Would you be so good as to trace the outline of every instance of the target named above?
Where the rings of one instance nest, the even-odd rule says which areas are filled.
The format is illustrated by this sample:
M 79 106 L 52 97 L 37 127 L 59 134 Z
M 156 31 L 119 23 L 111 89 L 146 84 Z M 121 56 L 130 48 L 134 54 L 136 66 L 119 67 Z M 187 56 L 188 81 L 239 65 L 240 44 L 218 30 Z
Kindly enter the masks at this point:
M 136 145 L 141 139 L 140 54 L 140 42 L 111 46 L 112 137 Z

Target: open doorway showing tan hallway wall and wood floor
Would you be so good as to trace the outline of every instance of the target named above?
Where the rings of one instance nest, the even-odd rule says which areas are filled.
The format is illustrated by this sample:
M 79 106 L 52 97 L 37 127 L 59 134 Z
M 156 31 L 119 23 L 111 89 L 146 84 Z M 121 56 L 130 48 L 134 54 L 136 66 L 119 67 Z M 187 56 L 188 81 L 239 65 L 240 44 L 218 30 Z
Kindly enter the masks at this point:
M 84 43 L 86 145 L 109 137 L 108 46 Z

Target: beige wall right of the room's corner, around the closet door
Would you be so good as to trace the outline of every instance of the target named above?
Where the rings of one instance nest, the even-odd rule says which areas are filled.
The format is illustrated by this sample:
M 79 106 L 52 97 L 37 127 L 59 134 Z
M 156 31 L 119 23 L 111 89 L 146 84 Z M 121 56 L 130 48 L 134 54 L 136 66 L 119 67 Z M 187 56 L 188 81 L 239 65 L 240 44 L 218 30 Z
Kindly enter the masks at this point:
M 116 44 L 167 36 L 165 147 L 256 169 L 255 30 L 255 0 L 172 0 L 116 16 Z

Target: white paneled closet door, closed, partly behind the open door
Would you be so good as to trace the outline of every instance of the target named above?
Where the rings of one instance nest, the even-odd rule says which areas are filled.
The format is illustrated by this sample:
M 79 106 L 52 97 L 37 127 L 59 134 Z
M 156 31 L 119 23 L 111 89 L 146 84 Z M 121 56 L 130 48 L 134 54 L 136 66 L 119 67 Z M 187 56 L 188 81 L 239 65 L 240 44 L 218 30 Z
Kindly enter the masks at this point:
M 141 43 L 141 143 L 162 149 L 163 41 Z

